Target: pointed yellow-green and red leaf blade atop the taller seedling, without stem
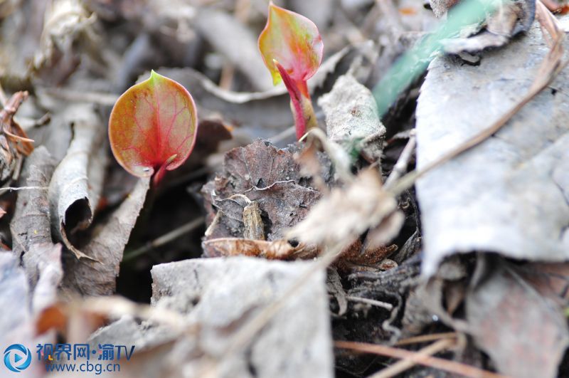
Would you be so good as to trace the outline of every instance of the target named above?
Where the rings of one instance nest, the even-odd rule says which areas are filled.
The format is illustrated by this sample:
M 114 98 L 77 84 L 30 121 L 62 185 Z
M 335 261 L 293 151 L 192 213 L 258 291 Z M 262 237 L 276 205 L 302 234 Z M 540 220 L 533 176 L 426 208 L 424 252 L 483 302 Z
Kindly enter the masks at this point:
M 275 61 L 294 81 L 305 82 L 318 70 L 324 45 L 312 21 L 271 3 L 267 26 L 259 36 L 259 50 L 277 85 L 282 79 Z

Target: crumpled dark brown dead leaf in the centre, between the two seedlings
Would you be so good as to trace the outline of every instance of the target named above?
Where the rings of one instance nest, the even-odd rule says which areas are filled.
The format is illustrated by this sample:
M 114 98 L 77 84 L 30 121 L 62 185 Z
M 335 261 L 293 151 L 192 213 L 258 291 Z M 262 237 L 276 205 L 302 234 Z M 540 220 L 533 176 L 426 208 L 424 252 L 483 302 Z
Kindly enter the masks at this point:
M 311 189 L 309 183 L 308 177 L 299 174 L 298 164 L 288 149 L 277 149 L 262 140 L 232 149 L 225 154 L 222 172 L 201 190 L 208 224 L 221 211 L 208 239 L 243 238 L 245 204 L 230 199 L 235 194 L 257 202 L 268 241 L 281 239 L 285 229 L 304 219 L 319 199 L 319 191 Z

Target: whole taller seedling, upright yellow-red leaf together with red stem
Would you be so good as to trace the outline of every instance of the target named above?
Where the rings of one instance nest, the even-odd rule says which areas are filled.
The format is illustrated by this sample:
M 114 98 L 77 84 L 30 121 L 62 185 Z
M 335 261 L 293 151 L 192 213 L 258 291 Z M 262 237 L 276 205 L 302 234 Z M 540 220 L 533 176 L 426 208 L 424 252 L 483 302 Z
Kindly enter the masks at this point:
M 290 95 L 297 139 L 317 127 L 307 80 L 320 67 L 324 45 L 312 21 L 272 2 L 267 25 L 259 36 L 259 50 L 273 84 L 285 83 Z

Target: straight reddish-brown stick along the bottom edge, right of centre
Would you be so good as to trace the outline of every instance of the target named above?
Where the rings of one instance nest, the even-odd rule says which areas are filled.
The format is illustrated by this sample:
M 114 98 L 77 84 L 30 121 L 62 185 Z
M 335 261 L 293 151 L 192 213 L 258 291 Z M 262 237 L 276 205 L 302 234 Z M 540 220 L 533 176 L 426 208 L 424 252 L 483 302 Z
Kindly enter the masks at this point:
M 444 370 L 454 374 L 462 374 L 465 377 L 471 378 L 505 378 L 506 376 L 488 372 L 477 367 L 472 367 L 460 362 L 450 361 L 437 357 L 419 355 L 418 352 L 411 352 L 409 350 L 388 347 L 386 345 L 368 344 L 366 342 L 351 342 L 351 341 L 336 341 L 334 346 L 342 349 L 356 350 L 358 352 L 371 353 L 373 355 L 380 355 L 399 359 L 409 359 L 417 364 L 422 364 L 435 369 Z

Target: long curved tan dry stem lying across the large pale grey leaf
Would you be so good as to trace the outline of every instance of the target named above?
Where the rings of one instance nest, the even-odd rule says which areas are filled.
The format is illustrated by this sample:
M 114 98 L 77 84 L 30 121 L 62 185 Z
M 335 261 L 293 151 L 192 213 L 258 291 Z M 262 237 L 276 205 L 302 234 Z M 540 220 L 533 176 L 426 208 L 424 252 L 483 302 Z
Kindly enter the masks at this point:
M 555 38 L 555 40 L 553 41 L 554 42 L 553 46 L 551 47 L 551 50 L 548 52 L 546 58 L 543 60 L 543 63 L 541 63 L 541 66 L 538 70 L 538 76 L 533 81 L 533 84 L 531 85 L 531 88 L 529 89 L 528 93 L 525 96 L 523 96 L 523 98 L 519 101 L 519 103 L 514 105 L 514 107 L 512 107 L 511 110 L 502 115 L 499 118 L 499 120 L 496 120 L 496 122 L 494 122 L 493 125 L 482 130 L 477 135 L 474 135 L 474 137 L 471 137 L 462 145 L 459 145 L 458 147 L 450 150 L 450 152 L 443 154 L 442 157 L 434 160 L 433 162 L 430 162 L 423 169 L 421 170 L 415 169 L 414 171 L 405 174 L 405 176 L 401 177 L 396 182 L 391 182 L 389 185 L 386 184 L 385 185 L 386 190 L 391 191 L 395 195 L 400 194 L 405 189 L 412 187 L 413 184 L 415 184 L 415 181 L 417 181 L 417 179 L 422 175 L 424 175 L 425 173 L 429 172 L 430 170 L 436 167 L 439 167 L 441 164 L 448 162 L 450 159 L 457 157 L 459 154 L 462 154 L 462 152 L 465 152 L 468 149 L 471 149 L 472 147 L 479 145 L 480 143 L 484 142 L 492 135 L 496 134 L 496 132 L 498 132 L 501 129 L 501 127 L 506 125 L 506 122 L 508 122 L 511 117 L 513 117 L 517 112 L 519 112 L 519 110 L 521 110 L 522 107 L 524 107 L 534 97 L 536 97 L 538 93 L 540 93 L 544 88 L 546 88 L 549 85 L 549 83 L 551 83 L 551 80 L 555 78 L 555 75 L 557 75 L 560 72 L 560 70 L 562 70 L 565 67 L 568 61 L 565 62 L 561 61 L 561 59 L 563 58 L 563 44 L 562 44 L 563 33 L 559 32 L 558 26 L 555 24 L 555 21 L 551 19 L 551 17 L 553 16 L 551 16 L 551 14 L 547 11 L 546 7 L 543 4 L 541 4 L 541 1 L 537 1 L 536 4 L 537 4 L 538 13 L 541 12 L 540 14 L 541 19 L 539 19 L 540 23 L 544 27 L 548 28 L 548 31 L 550 33 L 552 33 L 553 31 L 556 35 L 553 36 Z M 548 15 L 546 14 L 544 15 L 543 12 L 548 12 Z M 553 30 L 551 28 L 553 28 Z

